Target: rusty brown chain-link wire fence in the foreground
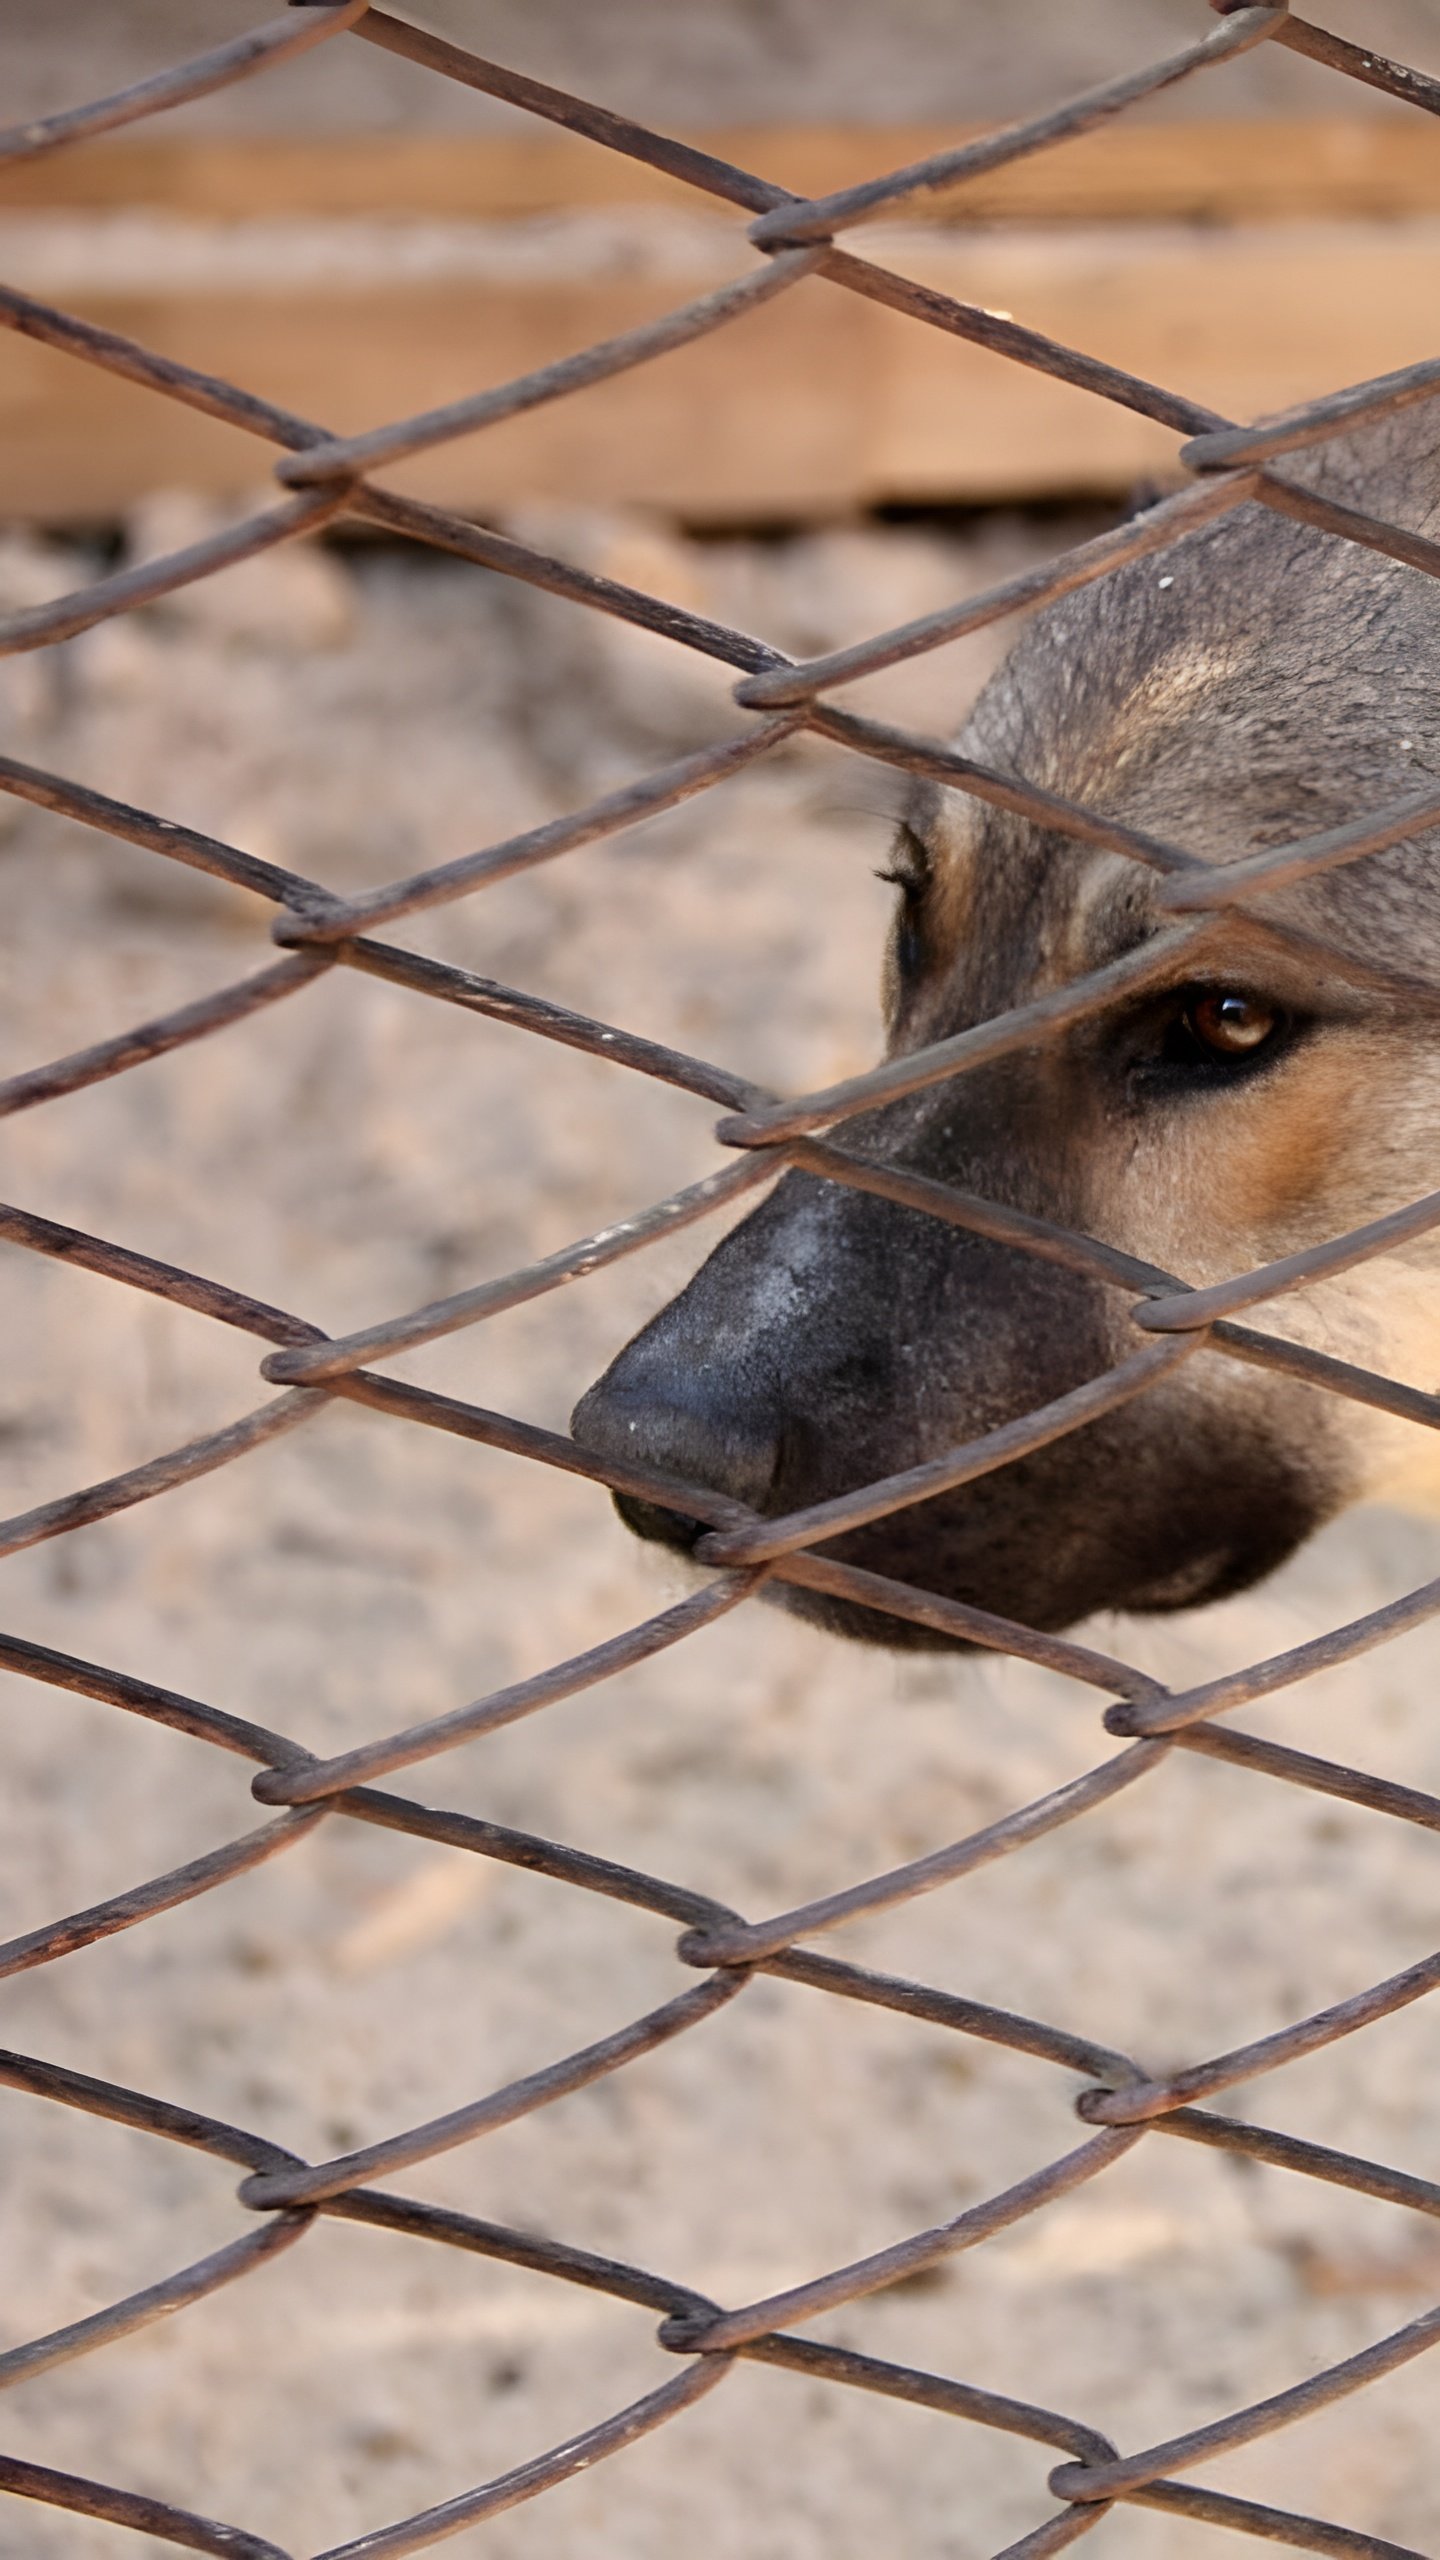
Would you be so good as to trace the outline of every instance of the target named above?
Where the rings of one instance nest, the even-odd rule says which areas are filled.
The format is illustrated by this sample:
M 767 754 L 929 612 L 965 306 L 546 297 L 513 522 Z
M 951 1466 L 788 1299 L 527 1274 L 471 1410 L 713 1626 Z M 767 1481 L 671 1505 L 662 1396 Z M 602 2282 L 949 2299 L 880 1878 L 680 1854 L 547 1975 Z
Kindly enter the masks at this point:
M 489 571 L 530 581 L 574 604 L 618 614 L 625 622 L 666 635 L 682 648 L 733 666 L 740 673 L 738 701 L 756 717 L 743 735 L 705 753 L 684 755 L 664 771 L 592 801 L 574 817 L 536 827 L 500 845 L 487 845 L 461 860 L 354 899 L 338 899 L 307 878 L 200 835 L 164 814 L 131 809 L 64 776 L 0 760 L 0 783 L 5 791 L 123 837 L 161 860 L 195 865 L 269 899 L 277 906 L 274 940 L 284 947 L 279 960 L 272 960 L 218 996 L 208 996 L 159 1021 L 146 1021 L 118 1039 L 97 1042 L 79 1055 L 0 1083 L 0 1111 L 33 1108 L 54 1096 L 74 1093 L 141 1060 L 202 1039 L 231 1021 L 256 1014 L 261 1006 L 295 998 L 333 968 L 356 968 L 415 993 L 492 1014 L 520 1032 L 569 1042 L 630 1073 L 653 1075 L 687 1093 L 707 1096 L 728 1114 L 717 1126 L 720 1139 L 740 1152 L 728 1170 L 712 1172 L 692 1188 L 638 1211 L 618 1226 L 584 1236 L 528 1270 L 459 1290 L 451 1298 L 364 1326 L 343 1339 L 325 1336 L 315 1324 L 292 1311 L 256 1303 L 220 1280 L 174 1270 L 131 1252 L 120 1242 L 79 1234 L 31 1216 L 23 1208 L 0 1208 L 0 1236 L 15 1247 L 59 1257 L 100 1280 L 149 1290 L 174 1306 L 210 1316 L 215 1324 L 238 1326 L 259 1341 L 272 1344 L 274 1349 L 261 1362 L 261 1372 L 279 1388 L 274 1398 L 251 1413 L 182 1449 L 169 1449 L 120 1477 L 87 1485 L 0 1523 L 0 1554 L 15 1554 L 41 1539 L 64 1536 L 82 1523 L 108 1518 L 133 1503 L 167 1492 L 172 1485 L 225 1467 L 277 1434 L 302 1428 L 333 1395 L 341 1395 L 377 1413 L 459 1434 L 461 1439 L 512 1452 L 541 1467 L 561 1467 L 589 1477 L 602 1490 L 625 1490 L 707 1521 L 710 1539 L 702 1554 L 717 1572 L 692 1597 L 571 1661 L 561 1661 L 451 1715 L 402 1733 L 379 1736 L 333 1759 L 315 1759 L 284 1733 L 174 1695 L 131 1672 L 74 1661 L 44 1646 L 3 1636 L 0 1664 L 10 1672 L 79 1690 L 126 1713 L 202 1738 L 220 1751 L 251 1759 L 259 1772 L 254 1795 L 261 1805 L 274 1807 L 274 1815 L 246 1838 L 231 1841 L 187 1866 L 146 1879 L 92 1910 L 72 1912 L 23 1938 L 13 1938 L 0 1948 L 0 1976 L 59 1961 L 69 1951 L 90 1946 L 113 1930 L 133 1928 L 292 1848 L 320 1820 L 346 1818 L 415 1833 L 428 1841 L 446 1841 L 474 1856 L 510 1861 L 571 1884 L 579 1892 L 610 1894 L 643 1912 L 679 1923 L 676 1958 L 700 1979 L 679 1989 L 651 2015 L 635 2017 L 584 2051 L 559 2056 L 528 2079 L 487 2092 L 433 2122 L 410 2125 L 364 2150 L 318 2163 L 295 2158 L 261 2132 L 208 2120 L 164 2097 L 87 2079 L 31 2056 L 3 2053 L 0 2081 L 13 2089 L 79 2107 L 90 2115 L 131 2125 L 156 2140 L 187 2143 L 236 2163 L 243 2171 L 241 2204 L 261 2220 L 202 2263 L 187 2266 L 49 2337 L 10 2348 L 0 2355 L 0 2383 L 38 2373 L 74 2355 L 95 2353 L 110 2340 L 197 2301 L 218 2286 L 233 2284 L 277 2250 L 302 2240 L 315 2214 L 331 2214 L 502 2258 L 551 2276 L 559 2284 L 592 2286 L 623 2301 L 648 2307 L 661 2314 L 659 2335 L 676 2355 L 676 2371 L 661 2388 L 618 2409 L 584 2435 L 538 2452 L 520 2468 L 484 2481 L 464 2496 L 369 2532 L 359 2542 L 346 2542 L 328 2560 L 356 2560 L 359 2552 L 377 2555 L 377 2560 L 387 2555 L 389 2560 L 389 2555 L 420 2550 L 464 2524 L 482 2522 L 523 2499 L 533 2499 L 597 2458 L 618 2452 L 641 2435 L 666 2424 L 702 2394 L 723 2383 L 735 2358 L 756 2358 L 825 2383 L 887 2394 L 963 2417 L 979 2427 L 1033 2440 L 1040 2447 L 1053 2447 L 1061 2455 L 1058 2468 L 1051 2473 L 1051 2493 L 1058 2499 L 1058 2506 L 1043 2514 L 1033 2532 L 1012 2545 L 1012 2552 L 1040 2555 L 1061 2550 L 1099 2524 L 1115 2501 L 1135 2501 L 1199 2524 L 1230 2527 L 1307 2550 L 1394 2555 L 1399 2550 L 1394 2542 L 1194 2486 L 1191 2481 L 1181 2481 L 1179 2473 L 1191 2473 L 1230 2447 L 1286 2427 L 1420 2355 L 1440 2340 L 1440 2307 L 1381 2337 L 1363 2353 L 1281 2388 L 1271 2399 L 1232 2409 L 1212 2424 L 1125 2455 L 1079 2417 L 1030 2406 L 986 2391 L 974 2381 L 912 2371 L 848 2348 L 822 2345 L 802 2335 L 802 2327 L 825 2309 L 879 2291 L 945 2253 L 974 2248 L 992 2232 L 1040 2212 L 1045 2202 L 1099 2176 L 1112 2161 L 1156 2132 L 1217 2145 L 1250 2161 L 1289 2168 L 1304 2179 L 1322 2179 L 1409 2207 L 1420 2214 L 1440 2214 L 1440 2184 L 1435 2181 L 1289 2132 L 1235 2122 L 1197 2104 L 1238 2089 L 1302 2053 L 1353 2035 L 1368 2022 L 1389 2017 L 1407 2002 L 1432 1992 L 1440 1984 L 1440 1953 L 1425 1956 L 1335 2007 L 1302 2017 L 1281 2033 L 1263 2035 L 1238 2051 L 1194 2061 L 1189 2068 L 1156 2079 L 1140 2061 L 1104 2051 L 1058 2025 L 1007 2015 L 1004 2010 L 933 1989 L 922 1981 L 863 1971 L 835 1956 L 817 1953 L 810 1940 L 853 1915 L 894 1907 L 912 1894 L 956 1884 L 981 1864 L 1017 1853 L 1027 1841 L 1079 1820 L 1089 1807 L 1133 1787 L 1176 1748 L 1202 1751 L 1238 1769 L 1263 1772 L 1273 1779 L 1317 1789 L 1320 1795 L 1343 1797 L 1399 1823 L 1417 1823 L 1430 1830 L 1440 1828 L 1440 1797 L 1215 1723 L 1220 1710 L 1266 1697 L 1309 1672 L 1363 1654 L 1386 1636 L 1422 1623 L 1440 1608 L 1440 1585 L 1414 1590 L 1389 1608 L 1373 1610 L 1317 1641 L 1250 1669 L 1209 1679 L 1204 1687 L 1181 1695 L 1163 1690 L 1156 1679 L 1086 1644 L 1040 1636 L 1025 1626 L 846 1567 L 822 1551 L 822 1541 L 843 1526 L 876 1518 L 899 1503 L 915 1503 L 928 1492 L 971 1480 L 1045 1439 L 1079 1428 L 1094 1416 L 1112 1411 L 1120 1400 L 1143 1393 L 1150 1380 L 1163 1377 L 1179 1359 L 1189 1359 L 1197 1352 L 1258 1362 L 1407 1421 L 1440 1423 L 1440 1395 L 1425 1395 L 1409 1385 L 1299 1349 L 1238 1321 L 1284 1290 L 1345 1270 L 1363 1257 L 1381 1254 L 1394 1244 L 1437 1229 L 1440 1193 L 1353 1234 L 1317 1244 L 1304 1254 L 1291 1254 L 1284 1262 L 1212 1288 L 1189 1290 L 1171 1275 L 1133 1262 L 1089 1236 L 1022 1219 L 999 1203 L 969 1198 L 894 1167 L 861 1162 L 835 1142 L 833 1132 L 861 1106 L 961 1075 L 981 1060 L 1058 1032 L 1102 1009 L 1122 988 L 1143 983 L 1156 970 L 1156 945 L 1074 980 L 1058 996 L 1025 1004 L 953 1039 L 879 1065 L 869 1075 L 851 1078 L 822 1093 L 807 1093 L 799 1101 L 779 1101 L 705 1060 L 564 1011 L 518 988 L 497 988 L 466 970 L 377 942 L 369 937 L 369 929 L 448 899 L 471 896 L 492 881 L 510 878 L 528 865 L 548 863 L 615 835 L 643 817 L 671 809 L 753 758 L 766 755 L 766 750 L 797 730 L 817 732 L 861 758 L 879 758 L 887 765 L 933 776 L 958 791 L 1033 817 L 1063 837 L 1109 847 L 1163 873 L 1158 904 L 1176 916 L 1174 932 L 1163 937 L 1161 960 L 1166 968 L 1171 968 L 1174 952 L 1184 947 L 1186 937 L 1199 932 L 1207 911 L 1245 906 L 1245 901 L 1266 888 L 1307 878 L 1335 863 L 1361 860 L 1368 852 L 1425 832 L 1440 817 L 1440 794 L 1435 791 L 1407 799 L 1379 817 L 1366 814 L 1355 824 L 1332 829 L 1325 837 L 1297 840 L 1238 860 L 1217 878 L 1179 845 L 1140 837 L 1104 814 L 1061 801 L 1017 776 L 976 768 L 943 742 L 856 717 L 838 707 L 833 696 L 856 676 L 894 666 L 1020 607 L 1040 604 L 1092 579 L 1102 579 L 1122 561 L 1156 553 L 1189 527 L 1245 499 L 1299 517 L 1338 538 L 1366 543 L 1432 576 L 1440 573 L 1437 543 L 1332 504 L 1312 489 L 1297 486 L 1276 468 L 1289 451 L 1325 440 L 1361 420 L 1381 417 L 1399 404 L 1430 397 L 1440 389 L 1440 361 L 1317 399 L 1273 425 L 1243 428 L 1176 392 L 1133 379 L 1076 348 L 1058 346 L 1010 317 L 969 307 L 907 282 L 835 243 L 843 230 L 851 230 L 874 212 L 904 205 L 925 189 L 953 187 L 976 172 L 994 169 L 1002 161 L 1094 128 L 1122 108 L 1179 79 L 1194 79 L 1248 46 L 1291 46 L 1350 79 L 1379 87 L 1430 113 L 1440 108 L 1440 84 L 1402 64 L 1361 54 L 1355 46 L 1289 15 L 1284 8 L 1238 8 L 1222 13 L 1222 26 L 1189 44 L 1181 54 L 1117 79 L 1104 90 L 1094 90 L 1086 97 L 1076 97 L 1048 115 L 986 136 L 979 143 L 938 154 L 869 184 L 848 187 L 840 195 L 802 202 L 787 189 L 712 159 L 689 143 L 648 133 L 607 108 L 482 61 L 374 8 L 366 10 L 366 0 L 307 0 L 300 13 L 292 10 L 287 18 L 174 72 L 146 79 L 118 97 L 0 136 L 0 161 L 18 161 L 38 151 L 82 143 L 92 133 L 133 123 L 167 105 L 254 77 L 266 64 L 284 61 L 307 46 L 341 36 L 361 36 L 379 44 L 441 77 L 466 82 L 489 97 L 559 123 L 610 151 L 648 161 L 702 195 L 740 207 L 753 218 L 748 236 L 758 251 L 758 261 L 720 292 L 669 312 L 664 320 L 635 328 L 623 338 L 582 348 L 500 389 L 487 389 L 443 410 L 402 417 L 351 438 L 336 438 L 313 420 L 295 417 L 236 384 L 149 353 L 143 346 L 110 330 L 92 328 L 23 294 L 3 292 L 0 317 L 8 328 L 284 448 L 284 461 L 277 466 L 284 494 L 274 509 L 200 540 L 187 550 L 149 561 L 141 568 L 126 568 L 118 576 L 105 576 L 56 604 L 13 614 L 0 625 L 0 648 L 10 653 L 64 640 L 233 561 L 284 543 L 290 535 L 338 517 L 359 517 L 387 532 L 459 553 Z M 1035 366 L 1163 422 L 1186 438 L 1181 461 L 1191 471 L 1191 486 L 1040 571 L 1027 571 L 976 599 L 881 632 L 856 648 L 797 666 L 743 632 L 725 630 L 612 579 L 571 568 L 520 540 L 372 486 L 361 476 L 372 466 L 379 468 L 425 445 L 477 433 L 500 417 L 512 417 L 538 402 L 559 399 L 584 384 L 643 364 L 666 348 L 723 328 L 756 302 L 797 292 L 810 279 L 825 279 L 869 294 L 907 312 L 915 323 L 951 330 L 958 338 L 992 348 L 997 356 Z M 830 1134 L 820 1137 L 817 1132 Z M 574 1441 L 523 1418 L 482 1411 L 451 1395 L 397 1382 L 369 1367 L 374 1359 L 433 1341 L 459 1326 L 479 1324 L 484 1316 L 533 1300 L 623 1254 L 641 1252 L 651 1239 L 674 1234 L 679 1226 L 705 1219 L 743 1193 L 758 1190 L 784 1165 L 802 1165 L 835 1183 L 881 1190 L 887 1198 L 958 1229 L 999 1239 L 1020 1252 L 1056 1260 L 1071 1272 L 1127 1290 L 1135 1300 L 1133 1316 L 1140 1334 L 1135 1354 L 1058 1403 L 1017 1423 L 1007 1423 L 922 1469 L 912 1469 L 907 1477 L 861 1487 L 856 1495 L 781 1521 L 761 1521 L 738 1503 L 720 1500 L 697 1485 L 676 1485 L 641 1469 L 602 1462 Z M 410 1769 L 459 1741 L 538 1713 L 553 1700 L 569 1697 L 628 1664 L 679 1644 L 694 1628 L 707 1626 L 720 1613 L 751 1597 L 769 1574 L 861 1600 L 871 1610 L 889 1610 L 897 1618 L 966 1636 L 994 1651 L 1015 1654 L 1086 1682 L 1102 1697 L 1112 1700 L 1102 1720 L 1107 1733 L 1120 1736 L 1122 1746 L 1099 1759 L 1086 1777 L 1038 1802 L 1022 1805 L 1004 1820 L 963 1841 L 953 1841 L 892 1874 L 869 1876 L 799 1910 L 761 1920 L 746 1920 L 664 1876 L 618 1866 L 579 1848 L 507 1830 L 471 1815 L 428 1810 L 377 1792 L 374 1779 L 379 1777 Z M 564 2092 L 582 2089 L 623 2068 L 635 2056 L 651 2053 L 669 2038 L 702 2028 L 720 2007 L 743 1997 L 746 1984 L 756 1974 L 774 1974 L 840 1999 L 881 2004 L 899 2015 L 948 2028 L 961 2038 L 986 2038 L 1056 2063 L 1068 2074 L 1079 2071 L 1086 2079 L 1086 2089 L 1079 2097 L 1079 2115 L 1086 2130 L 1079 2143 L 1061 2143 L 1048 2166 L 940 2227 L 907 2232 L 869 2258 L 822 2271 L 812 2281 L 771 2294 L 769 2299 L 728 2307 L 674 2284 L 664 2271 L 623 2266 L 571 2248 L 564 2237 L 536 2237 L 423 2204 L 389 2189 L 377 2189 L 374 2181 L 392 2171 L 428 2161 L 451 2145 L 469 2143 L 489 2127 L 515 2122 Z M 277 2545 L 238 2524 L 215 2524 L 159 2499 L 49 2470 L 23 2458 L 0 2458 L 0 2488 L 102 2522 L 128 2524 L 190 2550 L 246 2555 L 246 2560 L 284 2560 Z

